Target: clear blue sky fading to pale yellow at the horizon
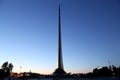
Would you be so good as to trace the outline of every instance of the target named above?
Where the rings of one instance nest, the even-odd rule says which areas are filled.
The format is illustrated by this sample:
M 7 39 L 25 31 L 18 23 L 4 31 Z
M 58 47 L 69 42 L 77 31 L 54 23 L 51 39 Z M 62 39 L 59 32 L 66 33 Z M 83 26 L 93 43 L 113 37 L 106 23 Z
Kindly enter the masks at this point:
M 59 0 L 66 72 L 120 66 L 120 0 Z M 0 66 L 50 74 L 57 67 L 58 0 L 0 0 Z

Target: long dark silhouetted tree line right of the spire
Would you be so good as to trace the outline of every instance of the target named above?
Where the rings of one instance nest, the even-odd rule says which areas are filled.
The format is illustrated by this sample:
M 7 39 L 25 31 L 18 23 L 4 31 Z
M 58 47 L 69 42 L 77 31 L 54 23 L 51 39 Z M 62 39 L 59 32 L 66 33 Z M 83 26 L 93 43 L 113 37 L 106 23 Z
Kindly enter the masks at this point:
M 120 77 L 120 66 L 104 66 L 102 68 L 94 68 L 92 72 L 80 74 L 81 77 Z

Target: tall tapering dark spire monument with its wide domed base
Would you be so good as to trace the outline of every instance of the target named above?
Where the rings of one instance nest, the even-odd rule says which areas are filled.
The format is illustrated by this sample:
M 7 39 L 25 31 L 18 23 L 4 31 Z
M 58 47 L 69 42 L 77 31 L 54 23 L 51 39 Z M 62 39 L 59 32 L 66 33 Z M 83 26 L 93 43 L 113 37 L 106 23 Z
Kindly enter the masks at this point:
M 54 71 L 54 76 L 64 76 L 66 72 L 63 67 L 63 59 L 62 59 L 62 44 L 61 44 L 61 16 L 60 16 L 60 4 L 58 7 L 58 68 Z

